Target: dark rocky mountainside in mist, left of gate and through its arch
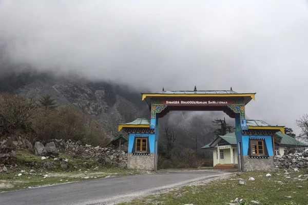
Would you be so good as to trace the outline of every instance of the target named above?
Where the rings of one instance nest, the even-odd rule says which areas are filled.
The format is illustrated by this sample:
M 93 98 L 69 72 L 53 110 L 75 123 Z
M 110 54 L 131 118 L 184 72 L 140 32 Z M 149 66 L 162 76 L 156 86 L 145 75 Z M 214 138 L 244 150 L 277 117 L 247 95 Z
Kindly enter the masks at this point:
M 59 104 L 71 104 L 82 112 L 95 116 L 109 138 L 118 134 L 118 123 L 136 118 L 148 118 L 149 108 L 141 100 L 140 92 L 127 85 L 107 81 L 90 81 L 76 75 L 55 76 L 34 70 L 3 72 L 0 76 L 0 92 L 14 93 L 24 97 L 41 98 L 47 94 Z M 148 92 L 142 90 L 142 92 Z M 166 141 L 164 129 L 174 129 L 175 148 L 200 148 L 214 138 L 211 120 L 222 116 L 220 112 L 170 112 L 160 119 L 160 141 Z M 111 134 L 112 133 L 112 134 Z

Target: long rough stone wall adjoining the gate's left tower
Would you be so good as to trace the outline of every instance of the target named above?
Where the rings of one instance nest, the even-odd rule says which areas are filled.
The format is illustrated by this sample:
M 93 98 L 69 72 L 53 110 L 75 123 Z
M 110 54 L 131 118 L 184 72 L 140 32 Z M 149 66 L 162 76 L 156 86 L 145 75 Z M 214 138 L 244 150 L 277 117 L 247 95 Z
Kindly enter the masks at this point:
M 127 153 L 111 148 L 92 147 L 82 145 L 79 141 L 54 139 L 55 147 L 58 152 L 70 153 L 77 159 L 93 159 L 102 165 L 111 163 L 120 168 L 127 168 Z M 49 141 L 50 143 L 50 141 Z

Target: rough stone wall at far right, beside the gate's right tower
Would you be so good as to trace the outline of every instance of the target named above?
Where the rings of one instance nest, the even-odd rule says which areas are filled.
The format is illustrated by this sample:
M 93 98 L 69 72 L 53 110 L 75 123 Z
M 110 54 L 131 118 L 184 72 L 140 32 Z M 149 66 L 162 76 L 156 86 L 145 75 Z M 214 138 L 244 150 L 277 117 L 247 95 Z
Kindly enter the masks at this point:
M 288 155 L 274 157 L 274 165 L 280 169 L 296 169 L 308 167 L 308 149 L 301 152 L 295 151 Z

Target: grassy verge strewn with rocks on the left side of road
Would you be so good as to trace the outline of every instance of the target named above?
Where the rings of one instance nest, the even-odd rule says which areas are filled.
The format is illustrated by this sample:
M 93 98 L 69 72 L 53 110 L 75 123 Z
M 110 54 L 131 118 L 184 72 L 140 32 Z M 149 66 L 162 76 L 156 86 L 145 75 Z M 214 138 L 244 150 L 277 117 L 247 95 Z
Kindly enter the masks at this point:
M 16 152 L 14 162 L 18 167 L 13 168 L 9 173 L 0 174 L 0 192 L 94 178 L 140 174 L 136 170 L 114 166 L 100 167 L 95 160 L 73 159 L 70 155 L 65 154 L 60 154 L 57 158 L 68 158 L 68 169 L 61 169 L 60 161 L 53 159 L 42 160 L 41 157 L 25 151 Z M 93 170 L 94 168 L 97 169 Z M 31 170 L 34 172 L 30 172 Z M 18 176 L 20 173 L 22 176 Z M 83 177 L 89 178 L 85 179 Z

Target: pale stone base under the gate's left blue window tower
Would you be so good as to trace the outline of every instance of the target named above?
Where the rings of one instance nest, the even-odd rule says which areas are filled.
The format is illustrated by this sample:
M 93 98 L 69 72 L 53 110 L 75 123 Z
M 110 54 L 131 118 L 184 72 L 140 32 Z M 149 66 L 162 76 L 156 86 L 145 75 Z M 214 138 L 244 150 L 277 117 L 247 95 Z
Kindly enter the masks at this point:
M 149 155 L 127 155 L 127 168 L 139 170 L 155 170 L 155 153 Z

